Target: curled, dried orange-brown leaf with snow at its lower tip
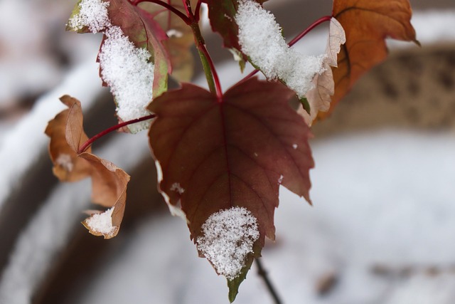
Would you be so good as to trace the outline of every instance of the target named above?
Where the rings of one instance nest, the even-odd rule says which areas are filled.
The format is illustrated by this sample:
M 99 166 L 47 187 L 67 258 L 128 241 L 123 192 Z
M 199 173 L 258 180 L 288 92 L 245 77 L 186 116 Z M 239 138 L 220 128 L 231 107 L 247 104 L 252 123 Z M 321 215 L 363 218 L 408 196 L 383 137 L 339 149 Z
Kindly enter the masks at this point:
M 90 233 L 110 239 L 117 235 L 122 223 L 129 175 L 112 162 L 92 154 L 90 147 L 86 152 L 78 151 L 88 140 L 82 128 L 80 102 L 68 95 L 60 100 L 68 109 L 50 120 L 45 130 L 45 134 L 50 137 L 49 154 L 54 164 L 53 172 L 65 182 L 75 182 L 85 177 L 92 178 L 92 201 L 107 208 L 112 207 L 112 210 L 91 216 L 89 219 L 97 220 L 90 221 L 92 223 L 90 225 L 87 221 L 83 224 Z M 98 221 L 101 219 L 103 221 Z M 111 223 L 112 229 L 100 229 L 100 223 L 106 222 Z

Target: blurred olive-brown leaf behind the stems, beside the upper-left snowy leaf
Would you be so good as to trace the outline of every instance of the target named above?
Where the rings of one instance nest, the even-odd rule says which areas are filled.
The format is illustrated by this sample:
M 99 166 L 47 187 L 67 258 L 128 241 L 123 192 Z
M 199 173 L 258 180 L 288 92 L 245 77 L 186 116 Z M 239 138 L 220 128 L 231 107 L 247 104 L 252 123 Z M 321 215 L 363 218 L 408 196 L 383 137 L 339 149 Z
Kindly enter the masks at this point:
M 197 0 L 191 0 L 191 7 L 196 8 Z M 181 0 L 168 0 L 168 4 L 186 14 Z M 172 77 L 178 81 L 190 81 L 193 77 L 194 58 L 190 51 L 194 44 L 193 31 L 176 14 L 150 2 L 139 4 L 141 9 L 154 16 L 154 20 L 166 31 L 168 39 L 163 41 L 172 67 Z

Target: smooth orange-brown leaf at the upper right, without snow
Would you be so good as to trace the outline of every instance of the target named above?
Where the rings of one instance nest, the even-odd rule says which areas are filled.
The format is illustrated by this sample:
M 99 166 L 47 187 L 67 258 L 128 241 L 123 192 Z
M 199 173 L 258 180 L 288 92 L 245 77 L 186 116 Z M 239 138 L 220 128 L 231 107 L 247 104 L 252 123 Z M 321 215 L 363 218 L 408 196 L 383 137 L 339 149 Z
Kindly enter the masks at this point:
M 346 43 L 338 56 L 338 68 L 332 68 L 335 94 L 330 110 L 320 112 L 319 118 L 330 114 L 360 76 L 387 57 L 385 38 L 419 44 L 410 23 L 411 16 L 409 0 L 333 1 L 333 17 L 346 31 Z

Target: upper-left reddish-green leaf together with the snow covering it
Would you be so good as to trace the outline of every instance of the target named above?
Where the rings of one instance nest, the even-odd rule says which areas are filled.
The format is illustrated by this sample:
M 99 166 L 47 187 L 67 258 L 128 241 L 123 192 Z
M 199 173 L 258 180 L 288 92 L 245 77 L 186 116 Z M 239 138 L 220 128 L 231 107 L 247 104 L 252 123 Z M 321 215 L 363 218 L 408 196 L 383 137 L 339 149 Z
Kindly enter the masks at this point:
M 145 107 L 167 90 L 170 72 L 162 43 L 167 36 L 153 16 L 125 0 L 81 0 L 68 29 L 105 33 L 98 56 L 100 75 L 114 95 L 119 120 L 149 115 Z M 141 122 L 128 130 L 148 127 L 149 122 Z

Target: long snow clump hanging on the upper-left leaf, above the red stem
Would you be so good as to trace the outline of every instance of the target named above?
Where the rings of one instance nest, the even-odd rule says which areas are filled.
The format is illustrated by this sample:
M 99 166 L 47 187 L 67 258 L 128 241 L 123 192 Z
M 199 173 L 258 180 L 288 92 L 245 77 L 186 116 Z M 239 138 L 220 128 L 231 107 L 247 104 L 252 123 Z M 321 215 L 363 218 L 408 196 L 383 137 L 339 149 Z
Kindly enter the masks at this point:
M 122 29 L 112 26 L 105 32 L 107 39 L 98 56 L 102 79 L 111 88 L 117 103 L 117 115 L 124 121 L 149 115 L 145 106 L 152 98 L 154 64 L 149 51 L 136 48 Z M 150 121 L 129 126 L 132 132 L 149 127 Z

